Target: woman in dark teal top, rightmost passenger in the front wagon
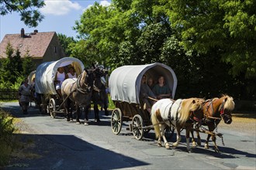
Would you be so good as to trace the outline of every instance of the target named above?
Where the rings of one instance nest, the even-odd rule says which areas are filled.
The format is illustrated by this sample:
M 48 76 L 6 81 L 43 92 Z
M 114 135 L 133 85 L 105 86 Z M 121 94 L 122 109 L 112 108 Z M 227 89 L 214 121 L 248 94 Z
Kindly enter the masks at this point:
M 164 82 L 164 76 L 159 76 L 158 83 L 154 86 L 153 92 L 157 96 L 157 99 L 171 97 L 171 90 Z

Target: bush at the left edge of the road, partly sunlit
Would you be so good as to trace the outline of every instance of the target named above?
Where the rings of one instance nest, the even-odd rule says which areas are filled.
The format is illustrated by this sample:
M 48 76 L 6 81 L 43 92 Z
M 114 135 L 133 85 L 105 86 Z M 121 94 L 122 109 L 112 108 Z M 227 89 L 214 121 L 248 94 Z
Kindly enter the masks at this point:
M 7 165 L 13 148 L 13 118 L 0 108 L 0 167 Z

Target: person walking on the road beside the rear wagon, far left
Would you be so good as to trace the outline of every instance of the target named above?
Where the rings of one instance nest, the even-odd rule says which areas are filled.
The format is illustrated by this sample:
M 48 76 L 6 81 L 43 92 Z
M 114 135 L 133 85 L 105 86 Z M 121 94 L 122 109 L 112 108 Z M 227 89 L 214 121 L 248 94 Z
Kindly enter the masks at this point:
M 24 80 L 22 85 L 19 87 L 19 94 L 20 94 L 20 99 L 19 103 L 20 106 L 22 107 L 22 112 L 23 114 L 28 114 L 28 107 L 29 107 L 29 102 L 30 102 L 30 97 L 31 97 L 31 90 L 32 87 L 29 85 L 29 80 Z

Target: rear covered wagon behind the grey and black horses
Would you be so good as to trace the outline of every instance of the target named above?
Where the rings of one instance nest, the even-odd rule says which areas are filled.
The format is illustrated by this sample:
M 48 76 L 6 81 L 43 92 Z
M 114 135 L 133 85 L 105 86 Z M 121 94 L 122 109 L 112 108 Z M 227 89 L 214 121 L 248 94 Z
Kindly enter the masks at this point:
M 77 75 L 80 75 L 85 69 L 81 60 L 74 57 L 65 57 L 57 61 L 41 63 L 36 68 L 36 100 L 40 104 L 40 111 L 42 113 L 47 112 L 52 117 L 55 117 L 57 113 L 56 107 L 62 102 L 54 83 L 57 68 L 61 66 L 64 66 L 65 73 L 68 71 L 68 66 L 73 66 Z

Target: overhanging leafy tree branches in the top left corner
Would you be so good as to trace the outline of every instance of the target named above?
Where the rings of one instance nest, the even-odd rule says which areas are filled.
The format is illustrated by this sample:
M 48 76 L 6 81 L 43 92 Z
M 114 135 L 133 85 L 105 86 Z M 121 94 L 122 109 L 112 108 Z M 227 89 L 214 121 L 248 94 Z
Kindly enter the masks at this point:
M 43 20 L 43 15 L 36 9 L 42 8 L 43 0 L 0 0 L 0 14 L 19 12 L 21 21 L 29 27 L 36 27 Z

